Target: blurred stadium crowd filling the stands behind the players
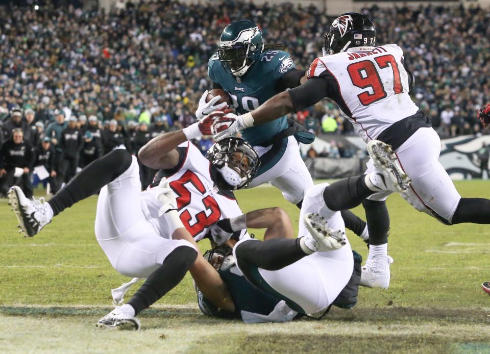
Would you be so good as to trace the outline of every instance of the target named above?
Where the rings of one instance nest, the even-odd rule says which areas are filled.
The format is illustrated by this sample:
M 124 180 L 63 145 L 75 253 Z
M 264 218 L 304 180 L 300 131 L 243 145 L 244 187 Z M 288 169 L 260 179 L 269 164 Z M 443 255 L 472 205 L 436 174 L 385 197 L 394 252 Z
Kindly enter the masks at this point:
M 475 113 L 490 96 L 490 12 L 477 6 L 362 11 L 377 23 L 378 44 L 403 47 L 415 75 L 412 97 L 437 132 L 482 134 Z M 233 1 L 142 2 L 108 14 L 11 6 L 0 7 L 0 18 L 0 144 L 31 148 L 25 166 L 15 167 L 27 174 L 45 163 L 55 190 L 100 154 L 117 146 L 136 153 L 155 134 L 191 124 L 210 88 L 208 58 L 230 21 L 254 20 L 266 42 L 284 43 L 305 69 L 320 55 L 332 21 L 314 7 Z M 294 118 L 315 133 L 352 134 L 326 100 Z M 211 140 L 200 144 L 205 151 Z M 5 151 L 2 186 L 13 178 Z M 143 173 L 143 185 L 149 178 Z

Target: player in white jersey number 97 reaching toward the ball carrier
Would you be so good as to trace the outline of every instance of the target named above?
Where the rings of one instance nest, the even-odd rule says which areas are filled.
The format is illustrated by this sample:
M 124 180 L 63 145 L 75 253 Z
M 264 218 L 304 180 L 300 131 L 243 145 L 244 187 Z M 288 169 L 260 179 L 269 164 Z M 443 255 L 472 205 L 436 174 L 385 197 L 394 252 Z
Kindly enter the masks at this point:
M 389 191 L 377 186 L 384 178 L 404 185 L 402 196 L 416 209 L 451 225 L 490 223 L 490 200 L 461 198 L 438 162 L 440 140 L 427 116 L 412 102 L 413 75 L 406 69 L 403 50 L 396 44 L 375 45 L 373 22 L 359 13 L 336 18 L 325 35 L 324 56 L 311 64 L 302 86 L 270 98 L 253 112 L 234 116 L 216 138 L 300 111 L 328 97 L 369 143 L 371 160 L 363 176 L 325 188 L 331 210 L 362 203 L 366 211 L 370 253 L 362 268 L 361 285 L 387 288 L 389 218 L 385 199 Z M 378 176 L 379 180 L 376 181 Z M 407 176 L 411 184 L 406 183 Z M 405 180 L 405 182 L 403 182 Z

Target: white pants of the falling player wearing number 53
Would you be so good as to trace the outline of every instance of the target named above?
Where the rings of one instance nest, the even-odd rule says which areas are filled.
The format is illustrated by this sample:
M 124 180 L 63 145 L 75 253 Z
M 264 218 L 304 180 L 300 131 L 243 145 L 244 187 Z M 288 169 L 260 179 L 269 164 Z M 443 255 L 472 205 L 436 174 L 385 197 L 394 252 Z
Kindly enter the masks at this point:
M 115 270 L 126 276 L 145 278 L 175 248 L 195 247 L 185 240 L 172 240 L 171 235 L 160 235 L 146 219 L 138 162 L 136 157 L 132 158 L 131 166 L 101 189 L 95 236 Z

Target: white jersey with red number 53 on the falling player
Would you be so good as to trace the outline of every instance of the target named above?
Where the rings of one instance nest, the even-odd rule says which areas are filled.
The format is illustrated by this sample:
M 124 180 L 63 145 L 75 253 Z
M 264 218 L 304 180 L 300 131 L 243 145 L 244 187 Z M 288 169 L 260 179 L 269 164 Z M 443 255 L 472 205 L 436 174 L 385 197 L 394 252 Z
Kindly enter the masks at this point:
M 216 221 L 243 214 L 232 192 L 220 191 L 211 178 L 211 163 L 192 143 L 184 142 L 178 149 L 181 154 L 177 168 L 168 171 L 166 178 L 177 196 L 179 217 L 194 240 L 202 240 L 209 227 Z M 156 179 L 162 171 L 156 176 Z M 164 217 L 158 217 L 161 202 L 156 199 L 160 181 L 154 181 L 142 192 L 142 208 L 146 218 L 152 222 L 160 235 L 170 238 Z M 247 234 L 241 231 L 240 239 Z

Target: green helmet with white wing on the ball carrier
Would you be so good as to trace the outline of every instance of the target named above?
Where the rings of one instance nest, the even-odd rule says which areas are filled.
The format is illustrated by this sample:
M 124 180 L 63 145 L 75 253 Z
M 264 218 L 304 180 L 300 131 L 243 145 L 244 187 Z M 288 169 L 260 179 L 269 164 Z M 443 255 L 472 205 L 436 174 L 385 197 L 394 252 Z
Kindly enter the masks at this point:
M 221 34 L 218 57 L 226 72 L 243 76 L 264 49 L 262 32 L 249 20 L 230 23 Z

